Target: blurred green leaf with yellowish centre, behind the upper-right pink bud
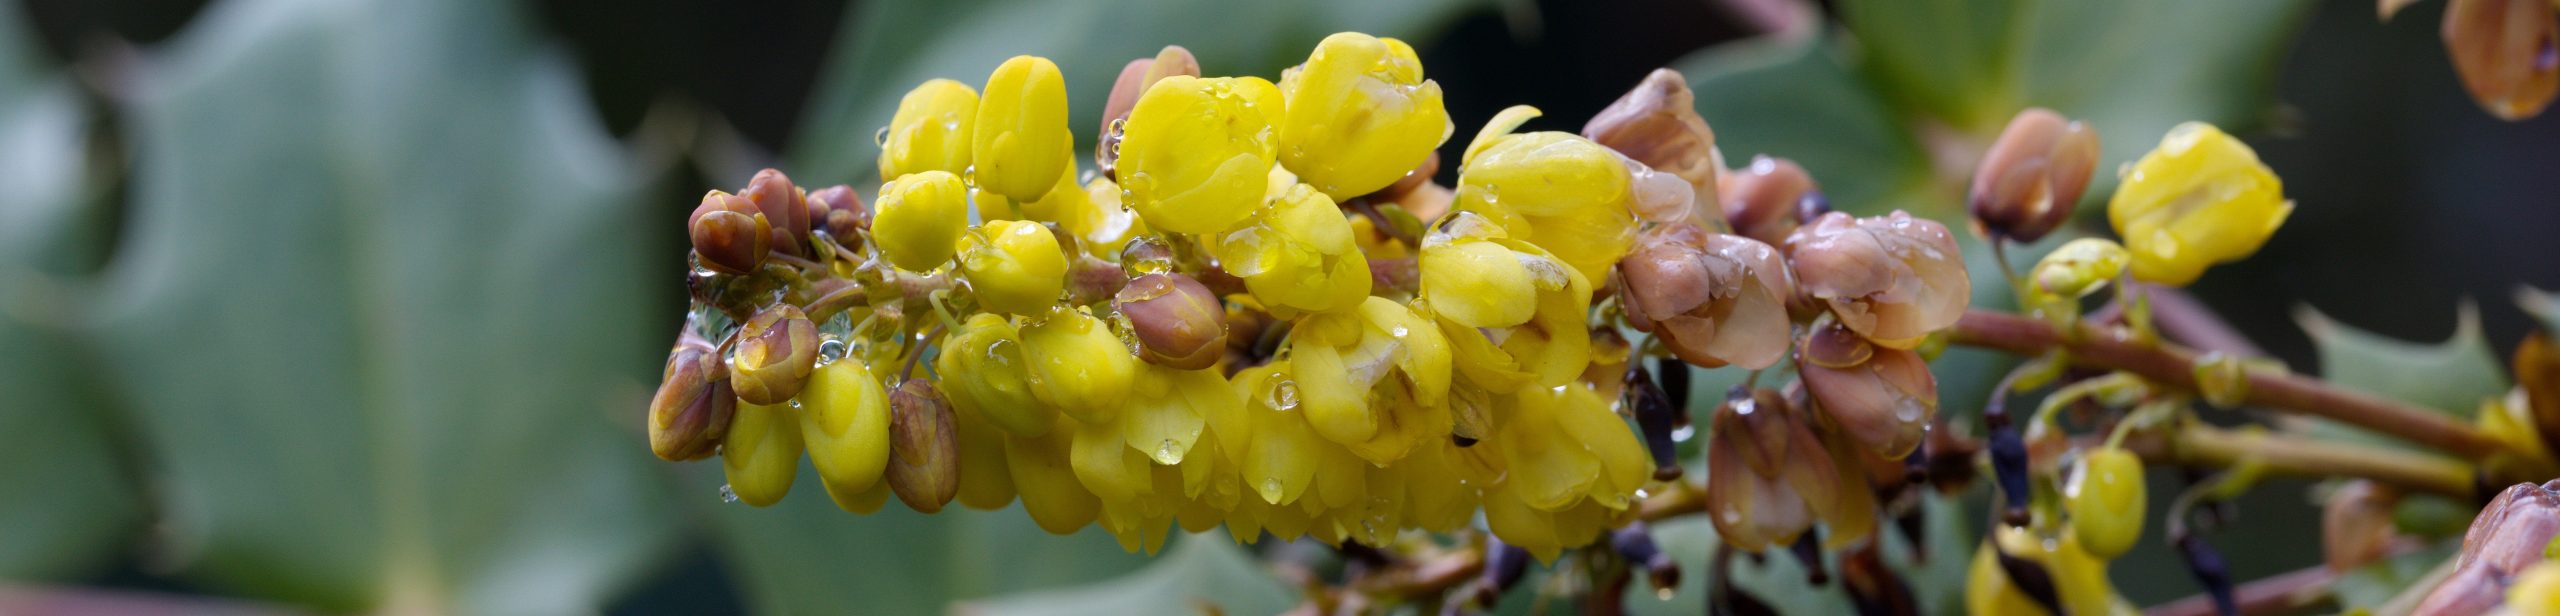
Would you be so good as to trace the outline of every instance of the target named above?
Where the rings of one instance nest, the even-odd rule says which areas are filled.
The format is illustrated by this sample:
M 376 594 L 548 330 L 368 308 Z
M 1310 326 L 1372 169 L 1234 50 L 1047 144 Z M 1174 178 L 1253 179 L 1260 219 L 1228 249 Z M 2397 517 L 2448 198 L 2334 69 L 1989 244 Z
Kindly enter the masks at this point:
M 1679 66 L 1731 164 L 1805 164 L 1851 212 L 1905 207 L 1958 220 L 1974 156 L 2022 107 L 2102 135 L 2081 212 L 2171 125 L 2250 128 L 2307 0 L 2028 3 L 1846 0 L 1846 36 L 1782 33 Z M 1825 41 L 1828 38 L 1828 41 Z

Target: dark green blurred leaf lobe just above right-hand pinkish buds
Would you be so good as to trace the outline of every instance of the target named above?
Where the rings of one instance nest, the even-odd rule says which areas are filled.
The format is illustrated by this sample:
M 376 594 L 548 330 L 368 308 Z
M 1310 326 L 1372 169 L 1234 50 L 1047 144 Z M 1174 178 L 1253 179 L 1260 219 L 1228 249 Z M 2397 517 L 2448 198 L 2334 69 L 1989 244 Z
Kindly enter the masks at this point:
M 1697 115 L 1715 125 L 1731 166 L 1759 153 L 1795 158 L 1830 204 L 1848 212 L 1907 207 L 1905 194 L 1930 181 L 1928 156 L 1902 112 L 1843 64 L 1825 36 L 1736 41 L 1672 66 L 1690 77 Z

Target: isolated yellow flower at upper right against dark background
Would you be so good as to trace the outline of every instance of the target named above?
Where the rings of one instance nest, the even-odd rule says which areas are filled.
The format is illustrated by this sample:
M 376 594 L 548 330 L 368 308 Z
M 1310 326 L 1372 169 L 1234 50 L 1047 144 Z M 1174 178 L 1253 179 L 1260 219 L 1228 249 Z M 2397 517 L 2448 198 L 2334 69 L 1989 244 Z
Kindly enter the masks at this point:
M 2132 250 L 2132 276 L 2168 286 L 2258 253 L 2291 212 L 2276 171 L 2207 123 L 2171 128 L 2107 202 L 2107 222 Z

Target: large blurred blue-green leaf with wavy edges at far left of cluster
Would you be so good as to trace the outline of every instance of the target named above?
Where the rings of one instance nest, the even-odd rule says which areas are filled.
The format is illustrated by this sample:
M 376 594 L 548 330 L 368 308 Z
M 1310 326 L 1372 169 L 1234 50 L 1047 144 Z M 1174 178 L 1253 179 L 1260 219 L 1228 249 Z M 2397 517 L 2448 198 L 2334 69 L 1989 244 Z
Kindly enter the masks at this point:
M 330 611 L 591 611 L 678 537 L 632 164 L 520 8 L 218 3 L 131 105 L 97 337 L 159 557 Z

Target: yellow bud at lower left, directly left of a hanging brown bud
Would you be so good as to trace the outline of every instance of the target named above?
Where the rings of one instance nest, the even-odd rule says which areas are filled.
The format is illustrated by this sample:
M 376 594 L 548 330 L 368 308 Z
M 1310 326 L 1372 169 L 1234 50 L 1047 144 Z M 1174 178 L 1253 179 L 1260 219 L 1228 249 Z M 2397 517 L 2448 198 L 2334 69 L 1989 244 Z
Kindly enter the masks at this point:
M 860 360 L 835 360 L 799 396 L 801 437 L 827 493 L 858 496 L 888 468 L 888 391 Z

